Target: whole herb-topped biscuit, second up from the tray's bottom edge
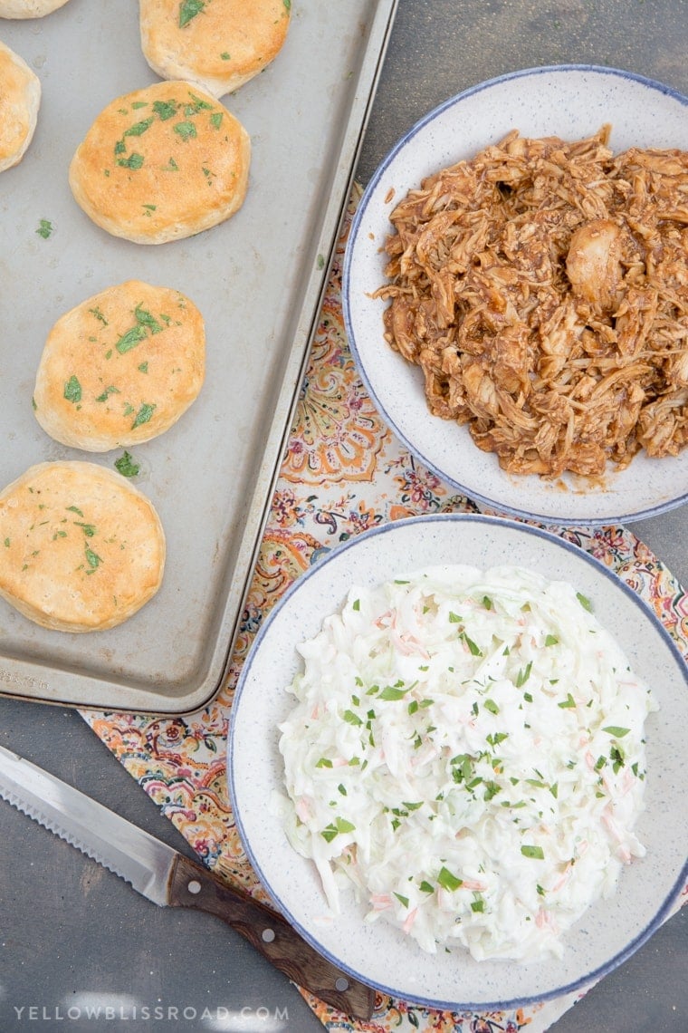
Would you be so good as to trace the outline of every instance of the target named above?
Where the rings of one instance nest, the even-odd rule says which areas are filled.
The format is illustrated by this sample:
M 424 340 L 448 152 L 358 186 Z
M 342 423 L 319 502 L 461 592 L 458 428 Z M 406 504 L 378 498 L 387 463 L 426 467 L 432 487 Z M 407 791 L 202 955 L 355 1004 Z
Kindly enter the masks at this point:
M 38 365 L 34 413 L 51 437 L 75 448 L 138 444 L 176 422 L 204 372 L 205 330 L 193 302 L 129 280 L 57 320 Z

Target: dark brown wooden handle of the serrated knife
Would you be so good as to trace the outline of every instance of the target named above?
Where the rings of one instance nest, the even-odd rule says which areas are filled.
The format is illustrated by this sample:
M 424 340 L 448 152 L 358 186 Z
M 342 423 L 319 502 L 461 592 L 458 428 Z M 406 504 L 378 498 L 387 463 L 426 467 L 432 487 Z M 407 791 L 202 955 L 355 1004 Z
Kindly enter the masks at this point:
M 222 918 L 275 968 L 339 1011 L 356 1019 L 371 1016 L 375 995 L 370 987 L 318 953 L 282 915 L 183 854 L 170 873 L 168 901 Z

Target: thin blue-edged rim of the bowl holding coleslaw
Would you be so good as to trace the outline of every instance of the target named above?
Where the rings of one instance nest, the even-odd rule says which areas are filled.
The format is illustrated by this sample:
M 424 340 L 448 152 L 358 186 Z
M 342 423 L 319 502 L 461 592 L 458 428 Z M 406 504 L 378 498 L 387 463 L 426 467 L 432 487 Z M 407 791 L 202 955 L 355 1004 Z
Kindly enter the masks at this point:
M 648 605 L 648 603 L 636 592 L 634 592 L 629 585 L 627 585 L 624 581 L 622 581 L 615 573 L 614 570 L 611 570 L 610 568 L 604 566 L 604 564 L 600 560 L 596 559 L 593 555 L 583 550 L 580 545 L 577 545 L 568 541 L 566 538 L 562 537 L 559 534 L 556 534 L 553 531 L 548 531 L 545 528 L 533 527 L 528 524 L 522 524 L 518 521 L 511 520 L 510 518 L 492 516 L 484 513 L 463 513 L 463 512 L 427 513 L 418 516 L 400 518 L 399 520 L 392 521 L 387 524 L 380 524 L 375 527 L 368 528 L 365 531 L 361 531 L 359 534 L 353 536 L 352 538 L 349 538 L 347 541 L 338 543 L 329 553 L 326 553 L 325 555 L 321 556 L 321 558 L 318 559 L 313 564 L 313 566 L 308 567 L 305 571 L 303 571 L 303 573 L 301 573 L 296 578 L 295 582 L 292 582 L 292 584 L 286 590 L 285 594 L 281 596 L 280 599 L 274 603 L 272 609 L 270 611 L 264 623 L 261 625 L 256 634 L 254 643 L 249 651 L 249 655 L 243 663 L 243 667 L 239 675 L 239 679 L 234 692 L 234 700 L 232 703 L 232 710 L 234 711 L 234 713 L 235 714 L 237 713 L 237 708 L 240 706 L 241 695 L 243 693 L 244 686 L 249 681 L 251 668 L 253 665 L 253 660 L 258 655 L 258 650 L 263 639 L 265 638 L 266 634 L 268 633 L 272 623 L 275 621 L 279 614 L 287 605 L 291 597 L 299 590 L 300 586 L 304 583 L 304 581 L 315 576 L 332 559 L 334 559 L 335 557 L 339 557 L 339 555 L 342 552 L 346 552 L 349 549 L 356 547 L 357 543 L 359 543 L 363 538 L 369 539 L 378 535 L 388 534 L 390 532 L 394 533 L 395 529 L 404 526 L 409 526 L 414 524 L 432 524 L 432 523 L 456 523 L 456 524 L 477 523 L 477 524 L 487 524 L 492 526 L 505 525 L 512 529 L 518 530 L 519 532 L 532 534 L 535 537 L 547 539 L 548 541 L 559 545 L 564 551 L 568 551 L 569 553 L 574 554 L 578 559 L 581 559 L 584 562 L 589 563 L 590 566 L 594 567 L 594 569 L 598 573 L 603 574 L 605 577 L 612 581 L 617 587 L 619 587 L 623 592 L 625 592 L 626 595 L 630 599 L 632 599 L 633 602 L 646 614 L 648 619 L 651 621 L 651 623 L 663 637 L 664 643 L 668 647 L 669 652 L 674 656 L 674 659 L 677 661 L 679 668 L 681 669 L 685 667 L 685 660 L 681 654 L 681 651 L 679 650 L 678 646 L 669 635 L 664 625 L 661 623 L 661 621 L 659 621 L 659 619 L 656 617 L 656 615 Z M 686 679 L 688 688 L 688 670 L 684 670 L 684 678 Z M 305 929 L 302 922 L 300 922 L 299 919 L 296 918 L 294 914 L 292 914 L 290 908 L 287 906 L 287 904 L 285 904 L 282 897 L 273 889 L 269 878 L 263 871 L 262 865 L 255 855 L 251 844 L 251 840 L 247 835 L 245 828 L 243 826 L 241 809 L 239 806 L 237 806 L 237 792 L 235 785 L 235 772 L 233 762 L 235 727 L 236 727 L 236 722 L 230 720 L 229 734 L 227 741 L 227 783 L 228 783 L 232 813 L 234 815 L 236 828 L 238 831 L 241 843 L 243 844 L 243 848 L 245 850 L 251 866 L 257 873 L 263 887 L 268 891 L 269 896 L 272 898 L 275 905 L 279 907 L 280 911 L 285 915 L 290 925 L 293 926 L 294 929 L 296 929 L 297 932 L 303 937 L 303 939 L 306 940 L 306 942 L 308 942 L 314 947 L 314 949 L 316 949 L 319 953 L 321 953 L 333 965 L 340 968 L 343 972 L 347 972 L 354 978 L 359 979 L 361 982 L 370 984 L 369 977 L 366 976 L 365 972 L 358 971 L 350 964 L 342 962 L 340 958 L 337 958 L 330 950 L 323 947 L 323 945 L 318 941 L 318 939 L 313 935 L 313 933 L 309 930 Z M 647 940 L 650 939 L 652 934 L 655 933 L 656 930 L 664 921 L 664 919 L 668 917 L 679 894 L 682 891 L 684 885 L 686 884 L 687 879 L 688 879 L 688 858 L 684 862 L 681 871 L 679 873 L 679 877 L 674 882 L 674 885 L 671 886 L 670 890 L 666 894 L 664 900 L 661 902 L 657 910 L 654 912 L 652 918 L 648 921 L 646 927 L 642 929 L 637 933 L 637 935 L 632 940 L 630 940 L 629 943 L 626 944 L 625 947 L 619 950 L 616 954 L 610 958 L 602 965 L 598 966 L 592 972 L 586 972 L 585 975 L 580 976 L 579 978 L 572 980 L 569 983 L 565 983 L 562 987 L 557 987 L 553 990 L 546 991 L 544 993 L 536 994 L 534 996 L 519 997 L 503 1001 L 502 1000 L 445 1001 L 445 1000 L 425 998 L 422 995 L 417 995 L 417 994 L 411 995 L 408 997 L 408 1000 L 413 1001 L 413 1003 L 417 1005 L 420 1005 L 421 1007 L 439 1008 L 441 1010 L 449 1010 L 449 1011 L 456 1010 L 457 1008 L 472 1010 L 472 1011 L 481 1011 L 481 1010 L 506 1011 L 511 1008 L 523 1007 L 525 1005 L 537 1004 L 543 1001 L 553 1000 L 554 998 L 562 997 L 566 994 L 576 993 L 585 988 L 588 988 L 593 983 L 597 982 L 603 976 L 609 975 L 610 972 L 613 972 L 616 968 L 622 965 L 633 953 L 635 953 L 635 951 L 640 947 L 642 947 Z M 388 994 L 390 997 L 394 998 L 399 997 L 398 989 L 387 987 L 379 982 L 378 980 L 374 981 L 373 985 L 376 990 L 380 990 L 384 994 Z

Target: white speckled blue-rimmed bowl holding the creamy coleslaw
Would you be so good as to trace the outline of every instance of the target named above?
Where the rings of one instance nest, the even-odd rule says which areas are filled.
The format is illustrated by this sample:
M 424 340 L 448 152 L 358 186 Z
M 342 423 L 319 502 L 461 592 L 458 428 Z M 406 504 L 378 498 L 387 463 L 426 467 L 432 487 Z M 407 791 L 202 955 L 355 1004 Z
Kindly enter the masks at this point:
M 287 841 L 270 809 L 283 790 L 279 724 L 295 706 L 287 691 L 299 669 L 296 645 L 337 611 L 352 584 L 372 586 L 403 568 L 434 563 L 490 567 L 504 562 L 564 580 L 586 595 L 616 636 L 660 710 L 647 723 L 646 810 L 636 825 L 647 855 L 622 872 L 616 895 L 569 930 L 560 961 L 476 962 L 454 949 L 427 954 L 382 921 L 364 925 L 353 898 L 331 924 L 310 862 Z M 628 958 L 669 912 L 688 875 L 688 672 L 650 609 L 589 554 L 549 532 L 494 516 L 412 518 L 364 532 L 328 554 L 294 584 L 261 628 L 232 706 L 228 778 L 249 858 L 276 906 L 318 950 L 345 971 L 403 1000 L 440 1008 L 506 1008 L 580 990 Z

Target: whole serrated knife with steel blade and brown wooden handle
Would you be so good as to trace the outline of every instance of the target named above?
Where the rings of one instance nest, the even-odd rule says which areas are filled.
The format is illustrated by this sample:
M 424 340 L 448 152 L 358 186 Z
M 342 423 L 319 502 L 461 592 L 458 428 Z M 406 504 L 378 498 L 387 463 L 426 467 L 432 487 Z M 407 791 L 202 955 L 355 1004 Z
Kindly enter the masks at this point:
M 371 1016 L 374 991 L 320 954 L 272 908 L 2 746 L 0 796 L 154 904 L 222 918 L 299 987 L 356 1019 Z

